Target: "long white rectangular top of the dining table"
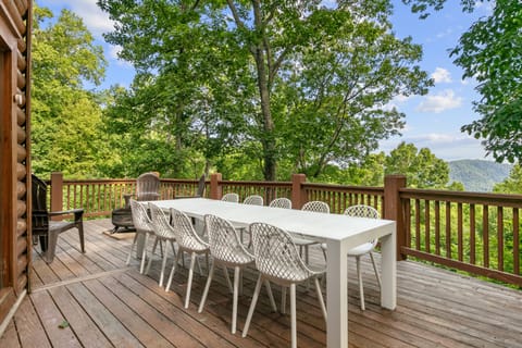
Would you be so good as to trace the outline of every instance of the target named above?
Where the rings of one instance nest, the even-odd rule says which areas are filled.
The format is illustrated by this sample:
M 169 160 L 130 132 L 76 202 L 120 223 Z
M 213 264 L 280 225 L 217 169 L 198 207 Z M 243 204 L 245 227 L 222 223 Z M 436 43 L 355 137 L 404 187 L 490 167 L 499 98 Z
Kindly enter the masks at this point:
M 263 222 L 318 240 L 349 239 L 350 246 L 358 246 L 395 232 L 395 222 L 390 220 L 250 206 L 207 198 L 158 200 L 152 203 L 165 210 L 174 208 L 198 219 L 206 214 L 217 215 L 237 226 L 246 227 L 253 222 Z

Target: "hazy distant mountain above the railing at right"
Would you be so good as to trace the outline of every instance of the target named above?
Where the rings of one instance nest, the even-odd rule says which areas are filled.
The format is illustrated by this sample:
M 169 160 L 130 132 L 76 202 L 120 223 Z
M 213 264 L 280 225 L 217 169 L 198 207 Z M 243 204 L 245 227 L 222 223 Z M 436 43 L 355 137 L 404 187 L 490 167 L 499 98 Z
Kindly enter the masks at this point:
M 450 182 L 461 182 L 467 191 L 492 191 L 493 186 L 509 176 L 512 165 L 483 160 L 450 161 Z

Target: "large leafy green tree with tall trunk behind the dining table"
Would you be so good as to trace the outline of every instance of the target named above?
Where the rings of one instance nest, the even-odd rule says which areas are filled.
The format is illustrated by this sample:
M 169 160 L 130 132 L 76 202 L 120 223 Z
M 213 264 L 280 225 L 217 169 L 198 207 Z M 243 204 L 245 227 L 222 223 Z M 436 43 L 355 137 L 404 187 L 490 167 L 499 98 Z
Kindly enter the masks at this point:
M 108 117 L 139 112 L 149 130 L 172 137 L 171 151 L 190 148 L 207 170 L 276 179 L 346 167 L 398 134 L 395 96 L 432 85 L 415 65 L 420 47 L 390 34 L 387 0 L 98 4 L 116 22 L 105 39 L 139 79 L 132 108 Z

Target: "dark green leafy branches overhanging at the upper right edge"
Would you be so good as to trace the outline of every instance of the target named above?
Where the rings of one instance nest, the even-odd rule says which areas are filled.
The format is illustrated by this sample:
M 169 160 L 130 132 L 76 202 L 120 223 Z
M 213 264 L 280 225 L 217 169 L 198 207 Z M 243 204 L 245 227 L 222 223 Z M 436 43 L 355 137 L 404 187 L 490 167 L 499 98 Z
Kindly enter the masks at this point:
M 427 8 L 439 10 L 446 0 L 402 0 L 412 11 L 427 15 Z M 480 18 L 459 45 L 451 50 L 455 63 L 464 70 L 463 77 L 475 78 L 482 98 L 474 102 L 480 120 L 462 126 L 472 134 L 497 162 L 522 159 L 522 7 L 520 0 L 490 1 L 493 12 Z M 480 3 L 461 0 L 464 11 Z

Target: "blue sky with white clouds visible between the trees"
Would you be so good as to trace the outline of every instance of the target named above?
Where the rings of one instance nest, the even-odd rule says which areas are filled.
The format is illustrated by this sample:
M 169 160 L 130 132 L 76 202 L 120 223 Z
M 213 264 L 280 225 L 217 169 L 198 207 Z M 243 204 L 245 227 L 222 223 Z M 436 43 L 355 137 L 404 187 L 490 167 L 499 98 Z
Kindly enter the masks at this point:
M 395 14 L 391 18 L 394 32 L 399 38 L 411 36 L 413 42 L 422 45 L 424 58 L 421 67 L 434 79 L 435 86 L 426 96 L 397 97 L 393 104 L 406 113 L 406 128 L 401 137 L 382 141 L 381 150 L 388 152 L 400 141 L 414 144 L 419 149 L 427 147 L 436 157 L 451 161 L 460 159 L 486 159 L 485 151 L 476 140 L 460 132 L 464 124 L 476 120 L 472 101 L 478 100 L 476 82 L 462 80 L 462 71 L 452 64 L 448 50 L 453 48 L 460 35 L 477 18 L 490 11 L 487 4 L 480 5 L 473 14 L 462 13 L 456 0 L 448 0 L 446 8 L 421 21 L 410 13 L 400 0 L 393 0 Z M 102 33 L 112 29 L 105 13 L 96 5 L 96 0 L 37 0 L 40 7 L 51 9 L 55 15 L 63 8 L 84 18 L 84 23 L 103 46 L 109 67 L 103 88 L 111 85 L 128 86 L 133 79 L 133 67 L 117 59 L 117 48 L 103 41 Z

